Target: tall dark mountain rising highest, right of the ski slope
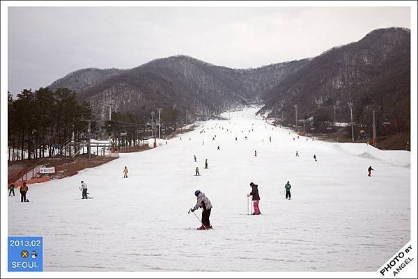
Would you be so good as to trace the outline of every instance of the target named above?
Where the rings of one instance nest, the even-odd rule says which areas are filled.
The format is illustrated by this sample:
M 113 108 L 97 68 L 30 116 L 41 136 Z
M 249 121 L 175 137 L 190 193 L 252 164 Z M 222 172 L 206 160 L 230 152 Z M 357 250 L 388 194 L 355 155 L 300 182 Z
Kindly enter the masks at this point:
M 377 29 L 362 40 L 316 56 L 263 95 L 261 111 L 295 119 L 308 118 L 319 106 L 339 104 L 346 122 L 353 102 L 355 119 L 369 118 L 366 106 L 381 106 L 387 117 L 410 115 L 410 30 Z

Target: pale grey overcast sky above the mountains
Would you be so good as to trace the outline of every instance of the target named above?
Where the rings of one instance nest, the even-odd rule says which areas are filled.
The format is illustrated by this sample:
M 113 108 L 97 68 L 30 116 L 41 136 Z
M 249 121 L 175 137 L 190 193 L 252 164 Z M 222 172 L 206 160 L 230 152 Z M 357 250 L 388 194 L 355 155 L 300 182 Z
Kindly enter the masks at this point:
M 8 8 L 8 89 L 86 67 L 185 54 L 226 67 L 317 56 L 373 29 L 410 28 L 410 8 Z

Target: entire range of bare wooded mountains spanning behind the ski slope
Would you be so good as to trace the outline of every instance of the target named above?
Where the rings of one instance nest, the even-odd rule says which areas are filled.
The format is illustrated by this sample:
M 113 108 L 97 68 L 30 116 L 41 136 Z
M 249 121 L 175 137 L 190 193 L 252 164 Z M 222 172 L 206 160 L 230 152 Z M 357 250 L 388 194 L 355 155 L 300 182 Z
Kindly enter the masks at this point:
M 132 69 L 84 69 L 54 81 L 88 100 L 98 118 L 112 111 L 149 117 L 161 107 L 178 115 L 208 115 L 263 102 L 260 112 L 309 118 L 318 106 L 336 105 L 348 122 L 353 102 L 356 122 L 371 117 L 366 106 L 381 106 L 384 118 L 410 116 L 410 30 L 376 29 L 358 42 L 334 47 L 314 58 L 251 69 L 220 67 L 189 56 L 158 58 Z

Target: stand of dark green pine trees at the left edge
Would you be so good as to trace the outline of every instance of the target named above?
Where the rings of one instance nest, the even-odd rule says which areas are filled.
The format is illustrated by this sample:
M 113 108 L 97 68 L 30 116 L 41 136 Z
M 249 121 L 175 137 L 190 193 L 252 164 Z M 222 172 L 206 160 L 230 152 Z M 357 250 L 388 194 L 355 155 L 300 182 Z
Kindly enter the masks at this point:
M 79 103 L 67 88 L 24 89 L 15 99 L 8 92 L 8 160 L 52 157 L 80 140 L 91 115 L 88 102 Z

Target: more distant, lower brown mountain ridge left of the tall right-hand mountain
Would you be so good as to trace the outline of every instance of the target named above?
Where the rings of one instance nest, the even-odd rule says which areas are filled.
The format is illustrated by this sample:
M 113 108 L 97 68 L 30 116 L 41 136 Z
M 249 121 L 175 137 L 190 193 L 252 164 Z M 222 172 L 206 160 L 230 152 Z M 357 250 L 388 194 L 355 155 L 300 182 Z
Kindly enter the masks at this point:
M 302 67 L 307 60 L 237 70 L 189 56 L 171 56 L 129 70 L 84 69 L 52 83 L 68 87 L 88 100 L 93 113 L 105 118 L 114 111 L 148 116 L 157 107 L 176 105 L 180 114 L 207 115 L 258 102 L 260 96 Z

